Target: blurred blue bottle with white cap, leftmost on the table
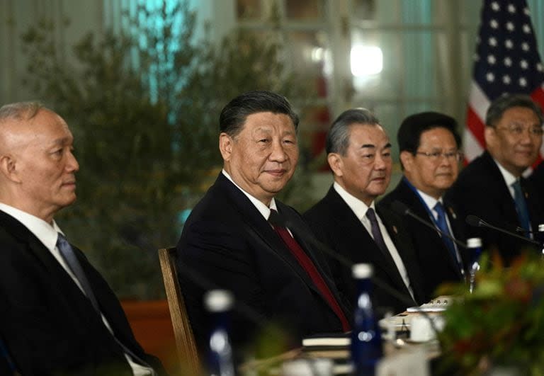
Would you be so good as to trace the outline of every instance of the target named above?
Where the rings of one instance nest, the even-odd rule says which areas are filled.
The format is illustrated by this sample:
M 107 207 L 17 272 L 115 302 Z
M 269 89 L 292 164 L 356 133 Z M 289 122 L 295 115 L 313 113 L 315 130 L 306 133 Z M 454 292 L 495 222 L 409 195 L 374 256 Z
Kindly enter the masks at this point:
M 204 304 L 210 313 L 210 351 L 208 370 L 212 376 L 234 376 L 232 346 L 229 339 L 230 309 L 234 298 L 227 290 L 210 290 Z

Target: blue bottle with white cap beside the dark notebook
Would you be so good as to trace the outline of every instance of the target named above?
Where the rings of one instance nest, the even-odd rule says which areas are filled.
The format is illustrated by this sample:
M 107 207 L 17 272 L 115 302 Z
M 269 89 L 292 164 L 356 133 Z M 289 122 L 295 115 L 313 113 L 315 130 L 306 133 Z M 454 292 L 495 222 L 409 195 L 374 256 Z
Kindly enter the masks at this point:
M 376 363 L 383 355 L 382 337 L 370 301 L 372 275 L 373 268 L 370 264 L 358 263 L 353 266 L 357 300 L 351 332 L 351 360 L 357 376 L 374 375 Z

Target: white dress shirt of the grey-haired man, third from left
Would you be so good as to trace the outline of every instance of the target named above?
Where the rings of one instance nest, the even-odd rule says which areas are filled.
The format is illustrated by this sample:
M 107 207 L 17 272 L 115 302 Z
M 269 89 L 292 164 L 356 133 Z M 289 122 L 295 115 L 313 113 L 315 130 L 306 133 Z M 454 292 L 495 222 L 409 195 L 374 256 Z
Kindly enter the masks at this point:
M 373 201 L 370 206 L 367 206 L 363 201 L 359 200 L 355 196 L 348 193 L 342 186 L 340 186 L 339 183 L 336 183 L 336 181 L 333 184 L 334 190 L 340 195 L 340 197 L 346 202 L 348 207 L 353 210 L 353 213 L 357 216 L 357 218 L 361 221 L 363 226 L 365 227 L 366 231 L 374 239 L 372 235 L 372 229 L 370 225 L 370 220 L 366 217 L 366 212 L 368 211 L 369 207 L 372 207 L 373 210 L 376 212 L 375 208 L 375 202 Z M 393 243 L 389 232 L 387 232 L 387 229 L 385 228 L 385 225 L 382 222 L 382 219 L 378 215 L 378 212 L 376 212 L 376 218 L 378 219 L 378 225 L 380 226 L 380 232 L 382 233 L 383 241 L 385 242 L 385 246 L 387 246 L 387 250 L 389 251 L 391 257 L 393 258 L 393 261 L 395 261 L 395 265 L 397 266 L 397 269 L 399 270 L 399 274 L 402 277 L 402 280 L 404 281 L 404 285 L 408 288 L 408 291 L 410 292 L 410 295 L 412 295 L 412 298 L 415 300 L 414 297 L 414 291 L 412 291 L 412 286 L 410 285 L 410 279 L 408 277 L 408 273 L 406 271 L 406 266 L 404 266 L 404 262 L 402 262 L 402 258 L 399 255 L 399 251 L 395 247 L 395 244 Z

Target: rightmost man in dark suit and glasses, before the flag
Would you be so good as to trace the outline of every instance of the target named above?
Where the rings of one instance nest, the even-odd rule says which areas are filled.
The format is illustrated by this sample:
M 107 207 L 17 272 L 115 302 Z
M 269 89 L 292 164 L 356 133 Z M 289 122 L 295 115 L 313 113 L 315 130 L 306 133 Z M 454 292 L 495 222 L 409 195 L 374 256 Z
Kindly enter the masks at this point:
M 461 171 L 446 193 L 463 210 L 463 217 L 476 215 L 494 226 L 531 238 L 544 223 L 543 200 L 522 173 L 536 161 L 542 144 L 543 114 L 530 97 L 508 94 L 497 98 L 485 119 L 486 151 Z M 508 265 L 527 241 L 483 227 L 469 228 L 481 237 L 487 250 L 497 249 Z

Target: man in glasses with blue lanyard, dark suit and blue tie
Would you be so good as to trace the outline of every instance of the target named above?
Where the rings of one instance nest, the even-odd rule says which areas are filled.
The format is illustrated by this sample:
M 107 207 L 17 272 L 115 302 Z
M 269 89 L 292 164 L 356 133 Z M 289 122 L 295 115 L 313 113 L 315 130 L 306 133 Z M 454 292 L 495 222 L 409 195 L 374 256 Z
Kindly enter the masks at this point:
M 455 119 L 435 112 L 404 119 L 397 133 L 404 176 L 378 207 L 391 207 L 399 201 L 437 229 L 465 241 L 464 218 L 443 200 L 458 176 L 462 159 L 456 127 Z M 404 217 L 404 224 L 416 249 L 426 297 L 436 297 L 436 287 L 441 283 L 463 280 L 465 249 L 412 217 Z

